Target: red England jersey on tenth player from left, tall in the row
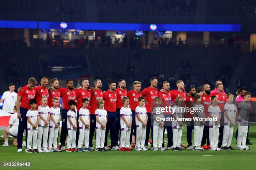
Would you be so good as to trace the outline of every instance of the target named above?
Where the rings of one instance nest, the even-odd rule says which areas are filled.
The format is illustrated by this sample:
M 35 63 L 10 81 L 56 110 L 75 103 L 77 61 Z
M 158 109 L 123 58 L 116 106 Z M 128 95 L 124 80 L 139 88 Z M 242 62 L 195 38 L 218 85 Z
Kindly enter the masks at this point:
M 151 86 L 142 90 L 142 95 L 145 97 L 146 101 L 148 101 L 145 105 L 147 112 L 151 113 L 154 108 L 155 98 L 157 97 L 157 88 L 152 88 Z

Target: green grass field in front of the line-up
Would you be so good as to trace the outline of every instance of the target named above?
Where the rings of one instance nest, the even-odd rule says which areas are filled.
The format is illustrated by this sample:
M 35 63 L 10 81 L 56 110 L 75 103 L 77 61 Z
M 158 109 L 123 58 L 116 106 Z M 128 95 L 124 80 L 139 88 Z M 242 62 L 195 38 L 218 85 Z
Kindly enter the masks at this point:
M 3 132 L 0 132 L 0 134 L 3 134 Z M 253 143 L 253 145 L 248 145 L 251 150 L 205 150 L 199 152 L 185 149 L 182 152 L 148 150 L 144 152 L 108 151 L 91 153 L 25 153 L 24 147 L 23 153 L 17 153 L 17 148 L 10 145 L 13 138 L 9 138 L 9 147 L 2 147 L 4 139 L 0 138 L 0 169 L 7 169 L 7 167 L 3 167 L 3 162 L 31 162 L 31 170 L 77 168 L 89 170 L 166 170 L 174 168 L 176 170 L 251 170 L 256 168 L 256 126 L 250 127 L 249 138 Z M 183 130 L 182 144 L 187 145 L 186 127 Z M 236 148 L 235 138 L 233 138 L 232 146 Z

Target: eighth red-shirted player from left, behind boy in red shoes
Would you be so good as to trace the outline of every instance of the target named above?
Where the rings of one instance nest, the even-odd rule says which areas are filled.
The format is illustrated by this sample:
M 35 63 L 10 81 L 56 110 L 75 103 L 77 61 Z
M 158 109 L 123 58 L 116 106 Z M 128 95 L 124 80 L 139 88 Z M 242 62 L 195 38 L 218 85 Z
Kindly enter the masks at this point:
M 116 143 L 118 143 L 118 137 L 120 134 L 120 109 L 123 107 L 123 97 L 127 97 L 127 89 L 126 87 L 126 82 L 124 79 L 120 79 L 118 81 L 119 87 L 115 92 L 117 93 L 117 100 L 116 100 L 116 117 L 117 117 L 117 122 L 116 122 Z M 120 134 L 121 135 L 121 134 Z

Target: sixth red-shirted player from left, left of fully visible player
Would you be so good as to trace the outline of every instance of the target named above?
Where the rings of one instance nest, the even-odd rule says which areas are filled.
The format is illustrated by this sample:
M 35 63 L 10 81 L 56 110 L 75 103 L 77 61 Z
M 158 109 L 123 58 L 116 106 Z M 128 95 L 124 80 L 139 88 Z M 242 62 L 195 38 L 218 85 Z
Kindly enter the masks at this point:
M 94 85 L 95 89 L 92 90 L 92 97 L 91 97 L 91 107 L 90 107 L 90 135 L 89 135 L 89 147 L 94 150 L 92 147 L 92 139 L 94 136 L 95 132 L 95 127 L 96 127 L 96 117 L 95 117 L 95 110 L 97 109 L 97 103 L 98 100 L 102 99 L 103 100 L 103 92 L 101 89 L 102 87 L 102 82 L 100 79 L 94 80 Z

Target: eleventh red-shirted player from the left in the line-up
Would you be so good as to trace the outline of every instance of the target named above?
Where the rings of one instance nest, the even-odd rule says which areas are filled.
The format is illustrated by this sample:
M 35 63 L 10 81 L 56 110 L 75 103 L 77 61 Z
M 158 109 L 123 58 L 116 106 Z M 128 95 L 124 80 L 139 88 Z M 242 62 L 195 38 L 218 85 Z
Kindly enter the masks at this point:
M 171 96 L 171 93 L 170 93 L 170 83 L 167 82 L 167 81 L 164 81 L 163 82 L 163 88 L 158 92 L 158 97 L 161 97 L 162 99 L 162 104 L 161 104 L 161 107 L 169 107 L 171 106 L 171 100 L 172 100 L 172 96 Z M 164 113 L 164 117 L 165 118 L 170 118 L 172 117 L 172 112 L 165 112 Z M 168 149 L 168 150 L 172 150 L 172 145 L 173 145 L 173 142 L 172 142 L 172 121 L 165 121 L 164 122 L 164 131 L 165 129 L 167 130 L 167 140 L 168 140 L 168 143 L 167 143 L 167 147 L 164 146 L 164 142 L 162 144 L 162 147 L 164 149 Z M 163 138 L 164 140 L 164 138 Z

